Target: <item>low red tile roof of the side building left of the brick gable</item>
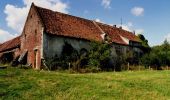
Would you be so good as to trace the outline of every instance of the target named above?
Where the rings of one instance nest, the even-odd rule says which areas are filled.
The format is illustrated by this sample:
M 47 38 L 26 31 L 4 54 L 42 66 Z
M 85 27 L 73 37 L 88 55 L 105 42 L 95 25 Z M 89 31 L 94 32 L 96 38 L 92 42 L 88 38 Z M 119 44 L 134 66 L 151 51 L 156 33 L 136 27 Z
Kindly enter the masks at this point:
M 18 36 L 12 40 L 9 40 L 7 42 L 0 44 L 0 52 L 4 52 L 4 51 L 11 50 L 13 48 L 17 48 L 20 46 L 20 44 L 21 44 L 20 36 Z

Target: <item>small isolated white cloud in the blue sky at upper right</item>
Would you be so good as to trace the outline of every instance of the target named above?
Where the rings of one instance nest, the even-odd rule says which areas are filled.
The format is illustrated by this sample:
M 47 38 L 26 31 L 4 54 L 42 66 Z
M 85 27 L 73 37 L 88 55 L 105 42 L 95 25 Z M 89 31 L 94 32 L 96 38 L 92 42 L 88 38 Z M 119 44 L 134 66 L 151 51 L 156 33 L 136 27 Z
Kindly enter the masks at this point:
M 135 16 L 142 16 L 144 14 L 144 8 L 134 7 L 131 9 L 131 13 Z

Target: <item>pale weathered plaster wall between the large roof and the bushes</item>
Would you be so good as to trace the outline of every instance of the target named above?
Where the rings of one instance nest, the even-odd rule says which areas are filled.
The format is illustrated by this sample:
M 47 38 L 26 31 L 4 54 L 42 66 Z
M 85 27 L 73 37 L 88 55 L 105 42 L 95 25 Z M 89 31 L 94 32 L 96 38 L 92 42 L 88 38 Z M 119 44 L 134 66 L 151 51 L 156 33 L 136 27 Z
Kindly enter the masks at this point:
M 69 43 L 75 50 L 90 49 L 90 41 L 82 39 L 68 38 L 56 35 L 44 34 L 43 37 L 43 57 L 50 58 L 55 55 L 61 56 L 61 52 L 65 43 Z

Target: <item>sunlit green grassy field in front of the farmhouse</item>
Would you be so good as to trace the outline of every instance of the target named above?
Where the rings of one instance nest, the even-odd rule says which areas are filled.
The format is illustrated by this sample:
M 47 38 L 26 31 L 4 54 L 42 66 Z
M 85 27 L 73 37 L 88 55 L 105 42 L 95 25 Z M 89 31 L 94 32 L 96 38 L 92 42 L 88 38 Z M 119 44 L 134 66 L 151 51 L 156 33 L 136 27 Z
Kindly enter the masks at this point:
M 4 100 L 168 100 L 170 71 L 69 74 L 8 68 L 0 70 Z

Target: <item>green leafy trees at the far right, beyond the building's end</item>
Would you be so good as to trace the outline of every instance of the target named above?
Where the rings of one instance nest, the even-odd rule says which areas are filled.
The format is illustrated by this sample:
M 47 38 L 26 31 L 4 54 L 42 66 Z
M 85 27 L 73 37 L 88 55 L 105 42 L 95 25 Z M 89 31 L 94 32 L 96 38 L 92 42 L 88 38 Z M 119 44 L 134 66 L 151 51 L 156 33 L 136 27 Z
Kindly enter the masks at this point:
M 145 66 L 154 66 L 155 69 L 170 66 L 170 44 L 167 40 L 160 46 L 152 47 L 150 53 L 141 58 L 141 63 Z

